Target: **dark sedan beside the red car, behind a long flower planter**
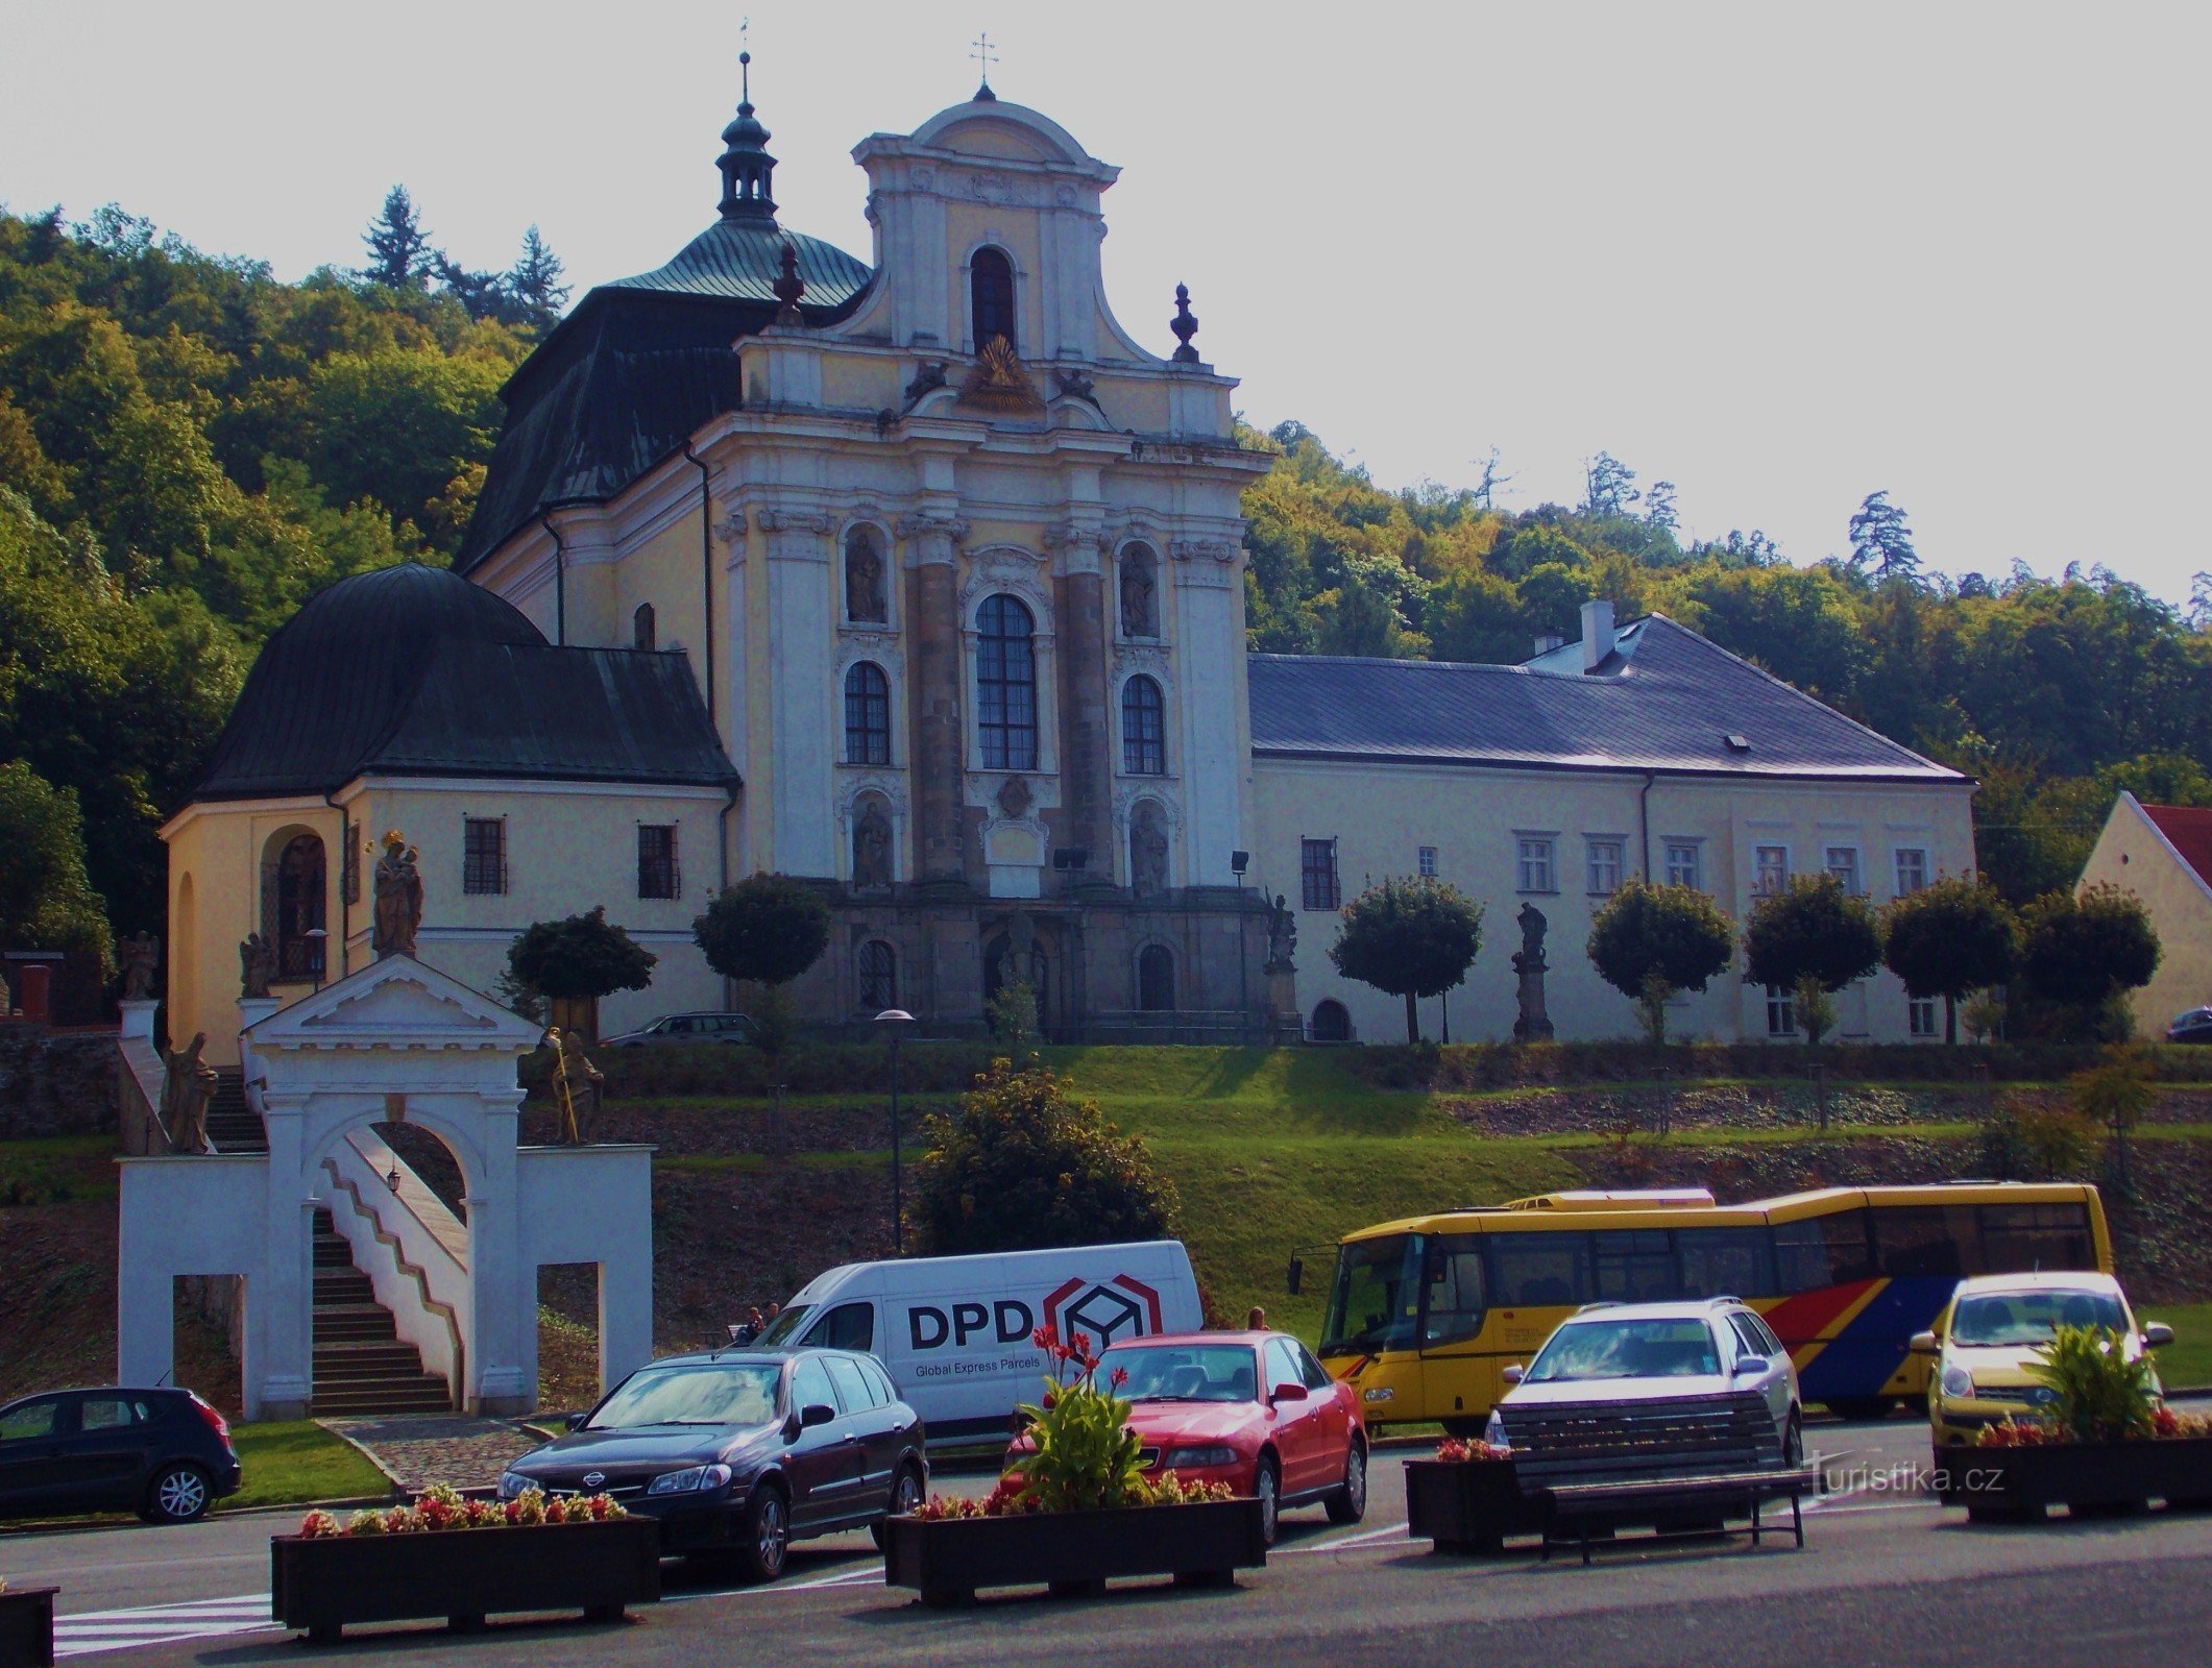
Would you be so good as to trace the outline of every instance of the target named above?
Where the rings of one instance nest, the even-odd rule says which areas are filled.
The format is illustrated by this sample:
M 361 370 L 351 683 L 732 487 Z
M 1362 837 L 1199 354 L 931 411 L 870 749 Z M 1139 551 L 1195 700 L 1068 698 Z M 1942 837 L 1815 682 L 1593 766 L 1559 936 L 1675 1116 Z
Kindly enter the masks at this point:
M 624 1378 L 571 1434 L 524 1453 L 500 1498 L 608 1493 L 661 1520 L 668 1553 L 728 1553 L 754 1582 L 794 1540 L 874 1529 L 929 1489 L 922 1418 L 874 1356 L 717 1349 Z

